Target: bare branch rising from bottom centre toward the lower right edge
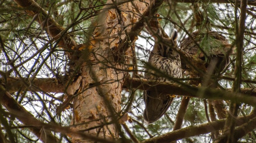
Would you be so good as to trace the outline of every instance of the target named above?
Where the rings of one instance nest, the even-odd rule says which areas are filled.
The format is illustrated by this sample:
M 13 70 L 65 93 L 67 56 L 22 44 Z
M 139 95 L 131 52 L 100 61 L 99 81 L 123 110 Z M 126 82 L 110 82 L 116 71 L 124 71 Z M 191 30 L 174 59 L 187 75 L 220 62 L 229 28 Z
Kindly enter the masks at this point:
M 249 116 L 238 117 L 236 126 L 240 126 L 246 123 L 250 119 L 256 120 L 254 117 L 255 117 L 255 113 Z M 209 122 L 201 125 L 188 126 L 186 128 L 178 129 L 178 130 L 160 135 L 158 137 L 153 137 L 145 141 L 141 141 L 140 143 L 155 143 L 155 142 L 169 143 L 172 141 L 177 141 L 177 140 L 188 138 L 188 137 L 194 137 L 201 134 L 216 132 L 224 128 L 225 121 L 226 119 L 222 119 L 222 120 L 217 120 L 217 121 L 213 121 L 213 122 Z

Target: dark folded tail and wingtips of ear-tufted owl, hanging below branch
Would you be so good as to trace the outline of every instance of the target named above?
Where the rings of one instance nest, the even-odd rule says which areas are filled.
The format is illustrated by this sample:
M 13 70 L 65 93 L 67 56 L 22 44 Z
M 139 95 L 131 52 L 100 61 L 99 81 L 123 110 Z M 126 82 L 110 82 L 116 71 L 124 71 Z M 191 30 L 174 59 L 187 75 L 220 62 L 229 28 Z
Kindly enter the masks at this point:
M 167 94 L 156 94 L 155 91 L 144 92 L 145 110 L 143 117 L 146 124 L 151 124 L 162 117 L 170 107 L 173 99 Z

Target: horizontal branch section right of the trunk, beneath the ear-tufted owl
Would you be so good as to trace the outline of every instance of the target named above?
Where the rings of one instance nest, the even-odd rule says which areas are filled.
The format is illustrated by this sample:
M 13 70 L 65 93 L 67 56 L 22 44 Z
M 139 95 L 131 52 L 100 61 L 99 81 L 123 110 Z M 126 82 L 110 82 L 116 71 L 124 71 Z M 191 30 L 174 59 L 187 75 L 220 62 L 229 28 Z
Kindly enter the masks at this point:
M 150 90 L 153 86 L 154 88 L 157 88 L 159 92 L 165 94 L 214 100 L 233 100 L 237 103 L 243 102 L 250 105 L 256 105 L 256 89 L 254 88 L 241 88 L 240 93 L 233 93 L 231 92 L 231 88 L 221 90 L 138 78 L 129 78 L 125 82 L 123 88 L 132 87 L 133 89 Z

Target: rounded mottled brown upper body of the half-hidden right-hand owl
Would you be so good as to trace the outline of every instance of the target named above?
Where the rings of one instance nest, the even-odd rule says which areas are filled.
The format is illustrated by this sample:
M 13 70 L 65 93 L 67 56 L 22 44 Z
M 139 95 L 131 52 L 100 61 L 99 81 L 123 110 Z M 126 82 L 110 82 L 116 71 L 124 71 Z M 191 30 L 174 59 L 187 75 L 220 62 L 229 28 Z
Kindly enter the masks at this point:
M 207 56 L 204 55 L 195 42 L 200 45 L 209 59 L 206 58 Z M 208 44 L 202 45 L 202 43 L 207 42 Z M 180 48 L 191 55 L 198 55 L 200 59 L 206 60 L 206 67 L 209 66 L 209 63 L 213 59 L 217 60 L 216 65 L 218 65 L 218 68 L 215 68 L 215 72 L 220 72 L 227 66 L 230 60 L 229 58 L 224 59 L 224 57 L 227 54 L 230 55 L 233 53 L 233 49 L 228 40 L 215 31 L 208 31 L 208 33 L 195 31 L 191 33 L 191 37 L 188 36 L 186 39 L 182 40 Z

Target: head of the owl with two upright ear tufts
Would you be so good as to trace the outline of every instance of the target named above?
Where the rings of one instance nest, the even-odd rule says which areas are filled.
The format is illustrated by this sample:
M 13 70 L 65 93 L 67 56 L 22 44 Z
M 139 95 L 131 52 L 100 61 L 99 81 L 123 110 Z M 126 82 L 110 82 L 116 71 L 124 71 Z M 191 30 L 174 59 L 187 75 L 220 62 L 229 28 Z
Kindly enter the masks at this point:
M 155 45 L 153 48 L 153 53 L 158 53 L 162 57 L 176 57 L 178 56 L 177 51 L 177 36 L 178 33 L 176 30 L 173 31 L 171 38 L 165 38 L 162 35 L 162 32 L 158 29 Z

